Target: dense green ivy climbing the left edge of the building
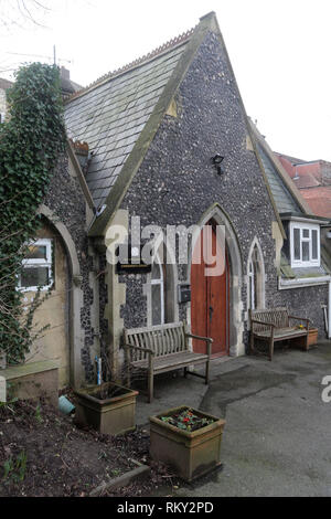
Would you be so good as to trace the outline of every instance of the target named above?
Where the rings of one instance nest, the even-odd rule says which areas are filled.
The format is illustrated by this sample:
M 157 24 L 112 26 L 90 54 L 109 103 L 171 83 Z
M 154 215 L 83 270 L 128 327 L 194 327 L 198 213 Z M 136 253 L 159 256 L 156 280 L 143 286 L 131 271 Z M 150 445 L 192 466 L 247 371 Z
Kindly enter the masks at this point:
M 23 360 L 33 340 L 36 297 L 22 313 L 18 274 L 60 153 L 65 149 L 58 68 L 21 67 L 8 91 L 9 118 L 0 125 L 0 352 Z

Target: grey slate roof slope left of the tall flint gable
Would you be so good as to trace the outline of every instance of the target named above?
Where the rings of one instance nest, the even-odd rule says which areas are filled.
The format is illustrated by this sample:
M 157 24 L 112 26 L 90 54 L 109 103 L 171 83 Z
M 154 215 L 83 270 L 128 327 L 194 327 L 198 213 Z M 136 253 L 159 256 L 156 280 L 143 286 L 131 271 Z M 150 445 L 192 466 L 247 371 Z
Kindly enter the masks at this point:
M 87 141 L 92 151 L 86 181 L 96 206 L 105 203 L 191 34 L 189 31 L 68 99 L 68 137 Z

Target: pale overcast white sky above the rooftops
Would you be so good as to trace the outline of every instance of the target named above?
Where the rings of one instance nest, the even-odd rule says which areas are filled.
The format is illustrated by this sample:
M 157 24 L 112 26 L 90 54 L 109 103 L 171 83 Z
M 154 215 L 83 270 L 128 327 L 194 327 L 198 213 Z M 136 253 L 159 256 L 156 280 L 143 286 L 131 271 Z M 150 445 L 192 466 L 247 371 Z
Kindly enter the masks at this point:
M 20 62 L 51 61 L 55 44 L 82 85 L 215 11 L 246 112 L 271 148 L 331 161 L 330 0 L 39 0 L 47 10 L 25 0 L 40 25 L 17 1 L 0 0 L 0 76 Z

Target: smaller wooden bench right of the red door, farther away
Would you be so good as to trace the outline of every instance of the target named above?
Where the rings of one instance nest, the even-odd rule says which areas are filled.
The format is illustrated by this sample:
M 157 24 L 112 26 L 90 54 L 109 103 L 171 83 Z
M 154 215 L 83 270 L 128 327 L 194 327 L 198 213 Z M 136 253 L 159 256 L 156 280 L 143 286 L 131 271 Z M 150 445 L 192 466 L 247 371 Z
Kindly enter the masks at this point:
M 274 343 L 281 340 L 302 339 L 302 347 L 308 350 L 309 319 L 288 314 L 287 308 L 250 310 L 250 352 L 255 350 L 255 339 L 269 343 L 269 359 L 273 360 Z M 291 325 L 291 319 L 306 322 L 305 328 Z

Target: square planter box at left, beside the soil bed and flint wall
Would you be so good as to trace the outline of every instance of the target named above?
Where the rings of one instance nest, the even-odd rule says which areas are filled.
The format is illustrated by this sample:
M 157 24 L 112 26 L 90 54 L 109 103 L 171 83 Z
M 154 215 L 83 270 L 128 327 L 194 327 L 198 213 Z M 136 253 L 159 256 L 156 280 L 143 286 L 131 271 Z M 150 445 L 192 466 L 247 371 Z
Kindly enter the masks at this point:
M 102 390 L 117 390 L 118 395 L 100 400 Z M 90 425 L 103 434 L 122 434 L 136 428 L 138 391 L 106 382 L 74 392 L 77 398 L 75 422 Z

